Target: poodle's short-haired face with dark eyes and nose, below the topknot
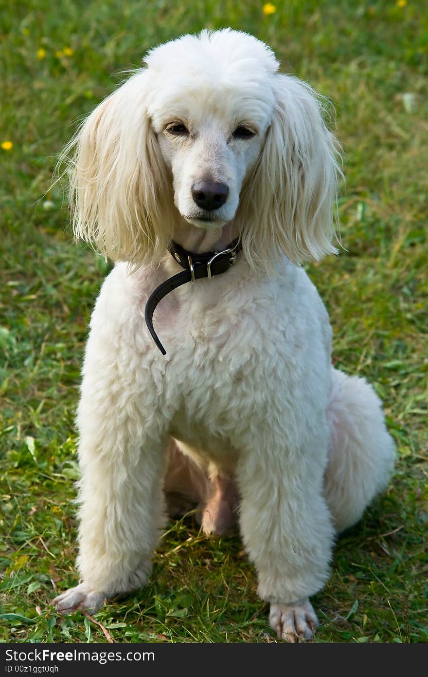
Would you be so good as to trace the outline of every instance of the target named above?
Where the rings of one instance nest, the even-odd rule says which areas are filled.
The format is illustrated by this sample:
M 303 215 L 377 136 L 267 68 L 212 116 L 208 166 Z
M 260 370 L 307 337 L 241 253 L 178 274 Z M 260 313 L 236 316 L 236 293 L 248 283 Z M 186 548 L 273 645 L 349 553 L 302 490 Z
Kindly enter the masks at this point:
M 260 156 L 270 111 L 256 97 L 206 88 L 189 92 L 153 114 L 153 127 L 172 173 L 174 204 L 192 225 L 216 228 L 231 221 L 239 194 Z M 193 105 L 191 105 L 193 103 Z

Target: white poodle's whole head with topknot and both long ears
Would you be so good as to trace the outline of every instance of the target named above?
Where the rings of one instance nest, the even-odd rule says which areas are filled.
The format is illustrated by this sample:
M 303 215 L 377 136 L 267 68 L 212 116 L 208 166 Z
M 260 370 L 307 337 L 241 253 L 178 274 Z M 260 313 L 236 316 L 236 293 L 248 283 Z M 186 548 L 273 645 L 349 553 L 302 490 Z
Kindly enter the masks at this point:
M 320 98 L 233 30 L 156 47 L 68 151 L 74 230 L 112 259 L 159 261 L 178 221 L 234 221 L 250 263 L 335 251 L 337 146 Z

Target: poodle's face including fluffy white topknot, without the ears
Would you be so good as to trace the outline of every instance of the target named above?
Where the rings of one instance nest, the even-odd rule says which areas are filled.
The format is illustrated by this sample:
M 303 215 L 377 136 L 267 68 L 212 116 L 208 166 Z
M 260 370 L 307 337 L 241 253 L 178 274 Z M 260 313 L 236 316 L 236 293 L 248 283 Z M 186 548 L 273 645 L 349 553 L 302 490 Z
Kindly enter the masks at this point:
M 248 35 L 207 37 L 162 45 L 146 63 L 153 92 L 148 114 L 172 173 L 174 204 L 186 221 L 210 229 L 235 217 L 260 157 L 275 106 L 277 61 Z

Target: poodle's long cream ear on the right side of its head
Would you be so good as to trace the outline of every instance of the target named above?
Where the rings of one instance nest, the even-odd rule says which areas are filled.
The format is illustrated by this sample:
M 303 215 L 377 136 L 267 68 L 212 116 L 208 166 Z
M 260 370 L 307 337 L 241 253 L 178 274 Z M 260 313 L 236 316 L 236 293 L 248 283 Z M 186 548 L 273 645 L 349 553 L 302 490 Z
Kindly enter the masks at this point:
M 276 105 L 264 149 L 243 194 L 249 261 L 282 254 L 300 263 L 336 253 L 339 144 L 323 121 L 323 102 L 294 77 L 275 75 Z

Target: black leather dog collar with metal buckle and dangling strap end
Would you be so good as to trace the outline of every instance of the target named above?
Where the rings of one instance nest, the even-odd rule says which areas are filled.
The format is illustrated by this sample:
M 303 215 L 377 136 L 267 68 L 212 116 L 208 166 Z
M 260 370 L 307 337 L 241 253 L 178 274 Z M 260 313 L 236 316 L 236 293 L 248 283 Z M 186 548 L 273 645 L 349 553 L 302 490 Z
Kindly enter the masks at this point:
M 231 265 L 235 263 L 236 257 L 241 249 L 242 244 L 239 241 L 239 238 L 233 240 L 227 248 L 221 251 L 207 252 L 205 254 L 189 252 L 180 244 L 173 241 L 170 246 L 168 246 L 170 255 L 185 270 L 182 273 L 172 276 L 172 278 L 168 278 L 168 280 L 156 287 L 150 294 L 144 309 L 145 324 L 147 324 L 147 328 L 149 329 L 153 341 L 160 349 L 162 355 L 166 355 L 166 350 L 162 343 L 160 343 L 158 335 L 153 329 L 153 313 L 158 303 L 166 296 L 166 294 L 169 294 L 169 292 L 172 292 L 172 290 L 182 284 L 186 284 L 187 282 L 193 283 L 195 280 L 200 280 L 201 278 L 209 278 L 211 280 L 214 276 L 225 273 L 229 270 Z

